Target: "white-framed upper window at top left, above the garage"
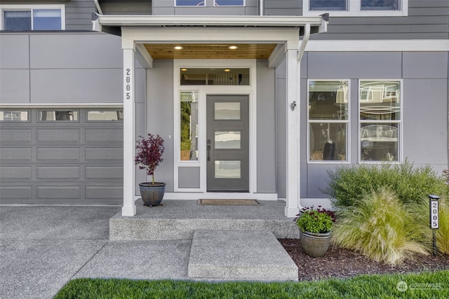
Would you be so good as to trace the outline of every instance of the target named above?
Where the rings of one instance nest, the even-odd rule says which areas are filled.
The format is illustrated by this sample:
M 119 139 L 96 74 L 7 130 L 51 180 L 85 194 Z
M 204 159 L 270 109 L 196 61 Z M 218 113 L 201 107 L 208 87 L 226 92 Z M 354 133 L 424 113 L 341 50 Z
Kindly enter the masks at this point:
M 65 6 L 0 5 L 0 30 L 64 30 Z

